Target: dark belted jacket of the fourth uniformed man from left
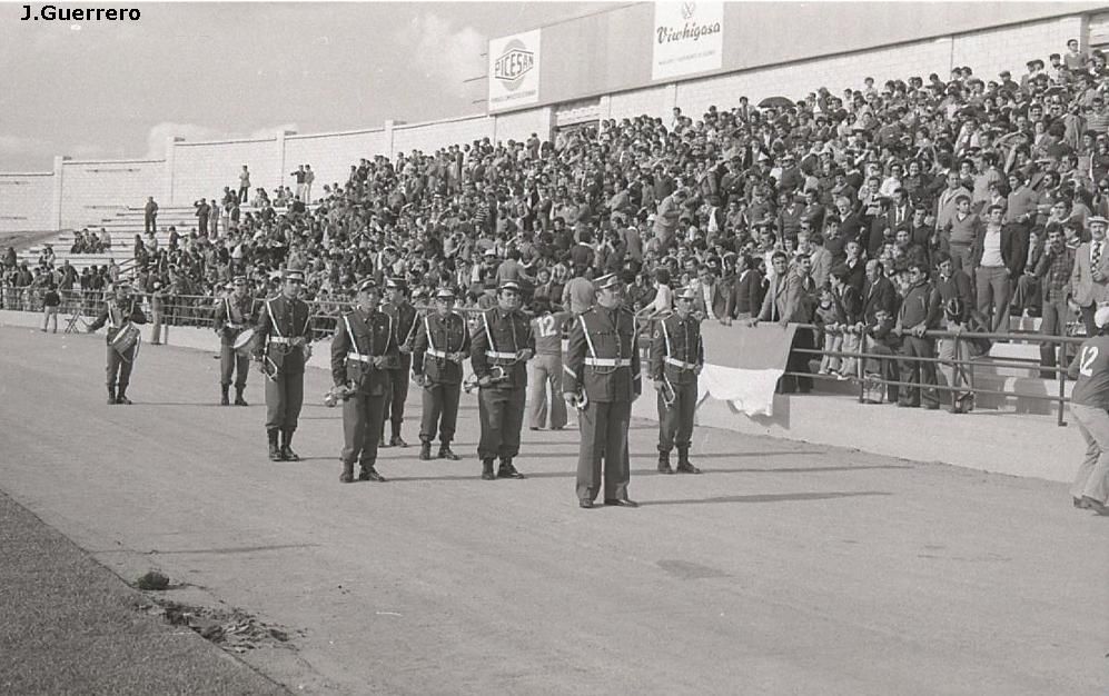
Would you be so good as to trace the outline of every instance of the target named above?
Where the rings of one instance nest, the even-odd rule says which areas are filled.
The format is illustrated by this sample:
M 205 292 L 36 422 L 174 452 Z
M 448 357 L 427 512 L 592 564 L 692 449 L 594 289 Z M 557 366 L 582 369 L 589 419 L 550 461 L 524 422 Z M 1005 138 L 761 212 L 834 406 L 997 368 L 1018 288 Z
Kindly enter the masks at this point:
M 393 318 L 376 309 L 369 314 L 355 309 L 343 315 L 335 327 L 331 381 L 335 386 L 350 382 L 362 394 L 385 396 L 393 385 L 399 355 Z M 357 356 L 384 357 L 385 364 L 376 367 Z

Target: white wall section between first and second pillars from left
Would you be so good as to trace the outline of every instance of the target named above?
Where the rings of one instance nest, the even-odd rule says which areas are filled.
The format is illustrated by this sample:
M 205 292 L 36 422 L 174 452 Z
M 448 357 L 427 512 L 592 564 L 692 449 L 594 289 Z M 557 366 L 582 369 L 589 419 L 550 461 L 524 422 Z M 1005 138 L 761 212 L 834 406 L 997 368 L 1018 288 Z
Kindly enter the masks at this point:
M 120 207 L 141 207 L 157 198 L 162 160 L 66 160 L 61 165 L 61 227 L 99 222 Z

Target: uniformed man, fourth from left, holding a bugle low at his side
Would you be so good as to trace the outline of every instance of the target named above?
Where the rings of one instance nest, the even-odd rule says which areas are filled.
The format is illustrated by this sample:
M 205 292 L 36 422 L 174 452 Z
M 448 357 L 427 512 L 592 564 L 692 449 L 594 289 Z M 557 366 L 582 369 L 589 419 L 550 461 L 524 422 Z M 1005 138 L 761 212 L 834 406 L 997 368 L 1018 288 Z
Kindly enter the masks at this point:
M 385 422 L 389 382 L 404 372 L 396 371 L 397 351 L 393 318 L 378 309 L 377 282 L 367 278 L 358 285 L 355 309 L 343 316 L 331 340 L 331 380 L 349 396 L 343 404 L 344 446 L 339 480 L 354 480 L 358 461 L 358 480 L 384 481 L 377 473 L 378 434 Z

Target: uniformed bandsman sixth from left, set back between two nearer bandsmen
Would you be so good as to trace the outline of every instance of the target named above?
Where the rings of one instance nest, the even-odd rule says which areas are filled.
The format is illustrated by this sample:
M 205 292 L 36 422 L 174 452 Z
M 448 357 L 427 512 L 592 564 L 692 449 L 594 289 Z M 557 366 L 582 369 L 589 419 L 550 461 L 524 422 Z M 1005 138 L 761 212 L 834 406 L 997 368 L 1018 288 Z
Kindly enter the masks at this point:
M 432 441 L 439 435 L 439 459 L 457 461 L 450 451 L 458 421 L 462 392 L 462 361 L 469 357 L 469 330 L 454 311 L 455 294 L 442 288 L 435 294 L 435 311 L 423 318 L 412 348 L 412 374 L 423 387 L 423 418 L 419 422 L 419 458 L 432 458 Z

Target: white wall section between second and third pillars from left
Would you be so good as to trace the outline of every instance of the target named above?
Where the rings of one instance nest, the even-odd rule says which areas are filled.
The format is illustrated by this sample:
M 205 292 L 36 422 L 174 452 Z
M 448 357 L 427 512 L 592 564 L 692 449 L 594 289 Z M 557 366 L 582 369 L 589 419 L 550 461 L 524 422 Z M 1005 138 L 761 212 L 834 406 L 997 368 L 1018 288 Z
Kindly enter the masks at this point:
M 279 183 L 295 187 L 295 180 L 287 176 L 295 165 L 284 167 L 287 171 L 283 171 L 280 157 L 277 138 L 178 142 L 172 155 L 172 200 L 159 202 L 189 206 L 201 198 L 218 199 L 225 186 L 238 189 L 242 165 L 250 169 L 251 189 L 263 187 L 273 192 Z

